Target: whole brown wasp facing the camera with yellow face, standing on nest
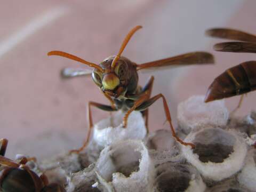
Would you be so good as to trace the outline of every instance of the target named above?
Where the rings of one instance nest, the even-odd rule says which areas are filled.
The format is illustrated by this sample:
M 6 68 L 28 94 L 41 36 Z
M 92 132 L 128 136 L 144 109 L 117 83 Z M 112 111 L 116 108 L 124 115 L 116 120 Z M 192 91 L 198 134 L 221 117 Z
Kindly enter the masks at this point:
M 91 115 L 91 106 L 97 107 L 106 111 L 116 111 L 124 110 L 126 114 L 123 118 L 123 126 L 127 125 L 127 118 L 133 110 L 143 111 L 145 116 L 146 127 L 148 125 L 148 107 L 151 106 L 159 98 L 163 99 L 163 106 L 165 111 L 165 116 L 167 121 L 170 124 L 173 137 L 180 142 L 182 145 L 189 145 L 194 147 L 193 143 L 183 142 L 176 134 L 172 125 L 170 111 L 166 102 L 166 99 L 163 94 L 157 94 L 154 97 L 150 98 L 151 90 L 153 87 L 154 77 L 151 76 L 146 85 L 141 88 L 138 86 L 138 70 L 151 68 L 151 67 L 165 67 L 173 65 L 191 65 L 191 64 L 203 64 L 203 63 L 213 63 L 213 56 L 210 53 L 206 52 L 191 52 L 186 54 L 181 54 L 176 57 L 171 57 L 167 59 L 162 59 L 158 61 L 143 63 L 138 65 L 129 59 L 121 56 L 122 52 L 125 49 L 126 44 L 129 42 L 132 35 L 138 29 L 142 28 L 141 26 L 134 27 L 125 37 L 121 49 L 115 56 L 110 56 L 107 59 L 103 60 L 100 65 L 85 61 L 81 58 L 76 57 L 62 51 L 51 51 L 48 55 L 59 55 L 61 57 L 66 57 L 78 62 L 82 62 L 87 66 L 93 67 L 91 76 L 94 83 L 99 86 L 100 91 L 105 95 L 105 97 L 110 101 L 111 105 L 102 105 L 97 102 L 89 102 L 88 105 L 88 116 L 89 116 L 89 133 L 87 134 L 86 141 L 84 142 L 83 147 L 78 150 L 73 150 L 79 152 L 87 146 L 89 142 L 91 129 L 93 126 L 92 115 Z M 65 69 L 62 71 L 62 75 L 66 77 L 74 77 L 79 75 L 88 74 L 85 71 L 78 69 Z M 148 129 L 148 128 L 147 128 Z M 148 131 L 148 130 L 147 130 Z

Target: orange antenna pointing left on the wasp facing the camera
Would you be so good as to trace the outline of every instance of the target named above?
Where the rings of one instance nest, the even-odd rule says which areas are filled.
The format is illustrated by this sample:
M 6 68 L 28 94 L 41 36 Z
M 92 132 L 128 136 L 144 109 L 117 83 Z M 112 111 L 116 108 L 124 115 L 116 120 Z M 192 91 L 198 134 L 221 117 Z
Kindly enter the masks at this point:
M 69 54 L 69 53 L 66 53 L 66 52 L 63 52 L 63 51 L 50 51 L 47 53 L 48 56 L 51 56 L 51 55 L 58 55 L 60 57 L 65 57 L 65 58 L 68 58 L 68 59 L 72 59 L 72 60 L 75 60 L 75 61 L 78 61 L 78 62 L 81 62 L 81 63 L 84 63 L 85 65 L 87 66 L 90 66 L 90 67 L 94 67 L 94 68 L 97 68 L 99 69 L 101 72 L 103 72 L 103 69 L 95 64 L 95 63 L 91 63 L 91 62 L 88 62 L 88 61 L 85 61 L 81 58 L 78 58 L 77 56 L 75 55 L 72 55 L 72 54 Z

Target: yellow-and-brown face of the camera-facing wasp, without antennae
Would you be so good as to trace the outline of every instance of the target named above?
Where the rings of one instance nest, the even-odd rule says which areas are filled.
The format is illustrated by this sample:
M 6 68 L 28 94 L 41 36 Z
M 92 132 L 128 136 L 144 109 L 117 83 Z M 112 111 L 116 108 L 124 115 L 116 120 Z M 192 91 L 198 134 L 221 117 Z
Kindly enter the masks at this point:
M 100 63 L 103 73 L 99 69 L 94 69 L 92 79 L 100 89 L 110 97 L 118 98 L 125 94 L 127 84 L 129 83 L 129 67 L 127 63 L 120 58 L 114 69 L 111 69 L 111 62 L 114 57 L 109 57 Z

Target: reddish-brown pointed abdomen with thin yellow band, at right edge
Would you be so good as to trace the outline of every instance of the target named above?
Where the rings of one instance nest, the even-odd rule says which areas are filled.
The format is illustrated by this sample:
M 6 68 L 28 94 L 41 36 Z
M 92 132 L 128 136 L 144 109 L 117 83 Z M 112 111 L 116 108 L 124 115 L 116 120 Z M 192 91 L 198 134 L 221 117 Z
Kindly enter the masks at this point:
M 227 69 L 210 85 L 205 102 L 233 97 L 256 90 L 256 61 L 246 61 Z

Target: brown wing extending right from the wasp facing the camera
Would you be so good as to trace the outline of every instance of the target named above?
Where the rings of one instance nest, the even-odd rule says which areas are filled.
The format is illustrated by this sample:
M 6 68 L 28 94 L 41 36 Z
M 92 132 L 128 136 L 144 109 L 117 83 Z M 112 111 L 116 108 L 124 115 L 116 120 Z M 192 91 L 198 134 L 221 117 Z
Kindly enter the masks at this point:
M 166 58 L 162 60 L 152 61 L 137 65 L 137 70 L 153 68 L 153 67 L 167 67 L 167 66 L 182 66 L 193 64 L 210 64 L 214 63 L 214 58 L 211 53 L 207 52 L 190 52 L 175 57 Z

